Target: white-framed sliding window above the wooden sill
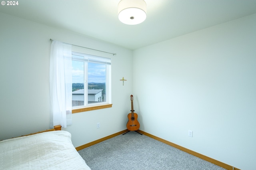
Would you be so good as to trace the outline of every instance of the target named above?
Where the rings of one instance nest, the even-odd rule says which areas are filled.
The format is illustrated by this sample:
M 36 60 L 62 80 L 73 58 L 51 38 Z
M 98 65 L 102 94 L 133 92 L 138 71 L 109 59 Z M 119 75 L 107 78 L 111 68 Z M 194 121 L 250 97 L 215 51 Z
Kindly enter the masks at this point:
M 72 108 L 111 103 L 111 59 L 72 52 Z

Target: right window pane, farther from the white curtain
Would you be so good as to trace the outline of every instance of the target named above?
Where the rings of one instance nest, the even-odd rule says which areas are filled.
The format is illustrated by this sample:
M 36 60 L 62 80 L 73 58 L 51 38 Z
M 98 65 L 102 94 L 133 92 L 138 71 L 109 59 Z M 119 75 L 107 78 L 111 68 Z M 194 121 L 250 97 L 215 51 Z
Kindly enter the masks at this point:
M 88 104 L 106 101 L 106 65 L 88 63 Z

